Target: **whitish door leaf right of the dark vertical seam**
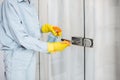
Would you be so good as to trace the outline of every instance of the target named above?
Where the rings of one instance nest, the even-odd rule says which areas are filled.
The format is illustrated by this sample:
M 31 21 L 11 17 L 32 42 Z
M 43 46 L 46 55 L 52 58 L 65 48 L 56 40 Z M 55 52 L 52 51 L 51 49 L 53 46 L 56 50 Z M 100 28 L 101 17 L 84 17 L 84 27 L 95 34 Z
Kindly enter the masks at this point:
M 94 39 L 86 48 L 88 74 L 93 67 L 94 80 L 120 80 L 120 0 L 86 1 L 86 24 L 86 37 Z

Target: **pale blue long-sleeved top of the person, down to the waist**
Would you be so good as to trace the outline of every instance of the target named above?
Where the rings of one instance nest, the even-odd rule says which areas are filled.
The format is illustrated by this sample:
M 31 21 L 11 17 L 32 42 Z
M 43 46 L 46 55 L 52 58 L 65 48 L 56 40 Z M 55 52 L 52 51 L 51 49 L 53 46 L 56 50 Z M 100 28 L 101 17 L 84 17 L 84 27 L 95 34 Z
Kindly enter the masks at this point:
M 4 36 L 1 35 L 3 49 L 24 47 L 47 52 L 47 43 L 38 40 L 41 26 L 33 5 L 24 0 L 4 0 L 1 15 L 4 28 Z

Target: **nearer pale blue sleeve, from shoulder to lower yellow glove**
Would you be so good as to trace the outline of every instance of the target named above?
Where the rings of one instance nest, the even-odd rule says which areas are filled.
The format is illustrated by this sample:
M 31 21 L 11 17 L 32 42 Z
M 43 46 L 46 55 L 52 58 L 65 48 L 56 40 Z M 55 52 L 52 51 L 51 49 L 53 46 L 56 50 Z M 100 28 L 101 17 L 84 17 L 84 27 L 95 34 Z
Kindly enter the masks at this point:
M 4 7 L 6 23 L 12 36 L 14 36 L 14 40 L 26 49 L 47 52 L 47 42 L 40 41 L 27 33 L 25 25 L 18 15 L 19 10 L 16 7 L 9 2 Z

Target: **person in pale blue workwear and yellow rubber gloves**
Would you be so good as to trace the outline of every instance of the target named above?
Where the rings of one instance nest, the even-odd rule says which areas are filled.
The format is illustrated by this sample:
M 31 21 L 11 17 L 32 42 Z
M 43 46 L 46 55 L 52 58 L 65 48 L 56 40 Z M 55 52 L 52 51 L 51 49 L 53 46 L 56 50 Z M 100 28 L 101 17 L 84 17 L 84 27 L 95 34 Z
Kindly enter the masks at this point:
M 0 28 L 7 80 L 35 80 L 35 53 L 62 51 L 70 45 L 39 40 L 41 33 L 61 36 L 62 31 L 50 24 L 39 26 L 33 2 L 28 0 L 4 0 Z

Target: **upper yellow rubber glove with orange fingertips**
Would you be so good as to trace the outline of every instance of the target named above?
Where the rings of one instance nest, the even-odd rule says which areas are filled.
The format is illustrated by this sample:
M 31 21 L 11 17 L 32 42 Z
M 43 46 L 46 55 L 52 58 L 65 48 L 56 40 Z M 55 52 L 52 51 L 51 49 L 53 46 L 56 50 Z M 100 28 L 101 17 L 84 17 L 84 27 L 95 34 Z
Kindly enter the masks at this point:
M 52 32 L 54 36 L 61 36 L 62 30 L 58 26 L 53 26 L 51 24 L 44 24 L 41 28 L 43 33 Z

